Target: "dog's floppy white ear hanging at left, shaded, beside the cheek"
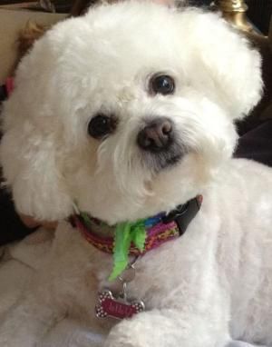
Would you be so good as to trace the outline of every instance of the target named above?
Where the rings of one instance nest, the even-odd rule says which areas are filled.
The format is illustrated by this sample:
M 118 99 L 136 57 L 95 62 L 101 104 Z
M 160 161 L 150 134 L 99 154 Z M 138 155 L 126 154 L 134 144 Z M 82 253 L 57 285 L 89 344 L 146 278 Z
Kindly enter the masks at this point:
M 15 207 L 39 220 L 67 217 L 73 212 L 73 204 L 58 169 L 53 141 L 41 134 L 29 134 L 24 131 L 26 126 L 7 131 L 1 144 L 4 177 Z

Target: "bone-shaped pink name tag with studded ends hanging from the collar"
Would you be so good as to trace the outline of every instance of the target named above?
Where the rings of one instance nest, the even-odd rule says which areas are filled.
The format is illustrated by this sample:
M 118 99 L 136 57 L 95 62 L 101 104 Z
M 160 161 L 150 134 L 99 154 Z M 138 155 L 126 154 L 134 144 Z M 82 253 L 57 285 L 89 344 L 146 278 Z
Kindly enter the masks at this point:
M 115 319 L 131 318 L 134 314 L 144 311 L 141 301 L 129 302 L 125 298 L 114 298 L 112 292 L 104 290 L 99 294 L 99 303 L 95 306 L 98 318 L 112 317 Z

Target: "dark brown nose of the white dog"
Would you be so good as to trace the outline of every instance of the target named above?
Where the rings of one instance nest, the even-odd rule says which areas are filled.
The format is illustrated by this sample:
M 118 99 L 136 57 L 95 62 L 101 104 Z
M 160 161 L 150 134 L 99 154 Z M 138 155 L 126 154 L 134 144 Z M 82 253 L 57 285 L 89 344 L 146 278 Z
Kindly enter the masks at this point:
M 160 117 L 153 119 L 138 134 L 137 143 L 141 149 L 160 152 L 170 145 L 173 126 L 170 119 Z

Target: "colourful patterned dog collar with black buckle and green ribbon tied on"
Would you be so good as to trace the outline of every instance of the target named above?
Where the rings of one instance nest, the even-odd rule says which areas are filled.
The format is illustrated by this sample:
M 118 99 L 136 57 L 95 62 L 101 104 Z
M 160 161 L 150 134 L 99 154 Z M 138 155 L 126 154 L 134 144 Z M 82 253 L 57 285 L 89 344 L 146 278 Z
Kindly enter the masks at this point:
M 159 213 L 136 223 L 117 224 L 115 237 L 102 237 L 94 233 L 94 226 L 103 223 L 86 213 L 73 215 L 71 223 L 80 230 L 88 243 L 104 253 L 113 253 L 114 267 L 110 280 L 114 280 L 126 268 L 129 255 L 143 255 L 185 233 L 199 212 L 201 203 L 202 196 L 198 195 L 188 203 L 178 205 L 170 213 Z

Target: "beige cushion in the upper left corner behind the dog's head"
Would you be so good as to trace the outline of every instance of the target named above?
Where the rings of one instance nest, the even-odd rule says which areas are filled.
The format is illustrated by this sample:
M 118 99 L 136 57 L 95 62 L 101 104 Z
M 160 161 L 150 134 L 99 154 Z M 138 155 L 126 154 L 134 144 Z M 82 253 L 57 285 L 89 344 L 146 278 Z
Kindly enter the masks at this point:
M 0 84 L 11 73 L 16 60 L 16 39 L 29 20 L 52 25 L 66 15 L 0 9 Z

